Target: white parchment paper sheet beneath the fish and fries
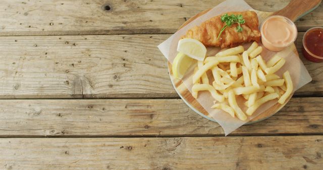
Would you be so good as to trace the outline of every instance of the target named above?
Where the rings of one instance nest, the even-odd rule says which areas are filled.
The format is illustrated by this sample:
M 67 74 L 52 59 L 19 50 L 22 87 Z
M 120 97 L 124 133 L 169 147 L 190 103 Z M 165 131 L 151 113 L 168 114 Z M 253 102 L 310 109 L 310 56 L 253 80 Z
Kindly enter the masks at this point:
M 200 25 L 202 22 L 218 16 L 222 13 L 225 12 L 230 12 L 230 11 L 247 11 L 247 10 L 253 10 L 246 2 L 243 0 L 227 0 L 218 6 L 214 7 L 211 9 L 209 12 L 206 14 L 198 17 L 182 29 L 178 30 L 175 34 L 173 34 L 170 38 L 168 38 L 166 41 L 158 45 L 159 50 L 161 53 L 164 54 L 164 56 L 171 62 L 173 63 L 173 60 L 175 56 L 177 55 L 177 45 L 178 41 L 180 38 L 185 35 L 185 33 L 192 27 Z M 260 23 L 259 23 L 260 25 Z M 247 49 L 250 46 L 251 43 L 244 44 L 243 46 L 245 49 Z M 295 55 L 294 52 L 291 52 L 295 50 L 295 45 L 291 45 L 288 48 L 286 48 L 283 51 L 278 52 L 278 54 L 286 59 L 285 65 L 277 72 L 279 76 L 282 77 L 282 74 L 286 71 L 289 70 L 293 84 L 294 84 L 294 91 L 297 89 L 301 88 L 308 82 L 312 80 L 310 77 L 308 71 L 306 70 L 304 64 L 302 61 L 299 59 L 297 55 Z M 216 54 L 218 51 L 220 51 L 220 48 L 208 48 L 207 49 L 207 54 L 208 56 Z M 263 51 L 261 53 L 261 56 L 264 60 L 269 60 L 272 56 L 277 54 L 277 52 L 272 52 L 266 50 L 266 48 L 263 47 Z M 193 67 L 193 66 L 192 66 Z M 192 89 L 192 75 L 193 75 L 193 69 L 190 69 L 190 71 L 187 71 L 183 77 L 183 82 L 187 89 L 191 92 Z M 210 76 L 209 76 L 210 78 Z M 210 79 L 210 82 L 212 82 L 212 79 Z M 192 92 L 191 92 L 192 93 Z M 237 102 L 241 109 L 245 112 L 246 107 L 243 105 L 242 101 L 243 98 L 238 98 Z M 213 105 L 214 99 L 208 92 L 199 92 L 197 101 L 200 103 L 200 105 L 211 115 L 211 117 L 216 120 L 224 129 L 225 134 L 228 135 L 235 129 L 239 128 L 243 124 L 247 123 L 254 117 L 258 116 L 261 114 L 263 111 L 271 108 L 277 103 L 277 100 L 273 100 L 270 102 L 267 102 L 266 104 L 262 105 L 257 109 L 257 111 L 246 121 L 241 121 L 238 118 L 232 118 L 228 113 L 223 112 L 222 110 L 219 109 L 211 109 L 210 107 Z M 239 102 L 240 101 L 240 102 Z

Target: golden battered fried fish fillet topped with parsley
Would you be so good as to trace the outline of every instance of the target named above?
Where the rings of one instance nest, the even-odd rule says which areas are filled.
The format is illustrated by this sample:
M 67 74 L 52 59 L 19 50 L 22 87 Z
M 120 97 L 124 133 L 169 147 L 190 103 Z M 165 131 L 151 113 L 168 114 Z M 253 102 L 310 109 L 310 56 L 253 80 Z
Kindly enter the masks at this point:
M 245 24 L 241 25 L 243 28 L 242 32 L 236 31 L 238 24 L 235 23 L 231 27 L 227 27 L 218 40 L 220 30 L 225 25 L 221 21 L 222 14 L 203 22 L 200 26 L 195 26 L 188 30 L 183 38 L 194 38 L 202 42 L 205 46 L 217 46 L 221 48 L 229 46 L 235 47 L 250 41 L 260 41 L 261 35 L 258 30 L 258 17 L 255 12 L 228 12 L 226 14 L 243 16 Z

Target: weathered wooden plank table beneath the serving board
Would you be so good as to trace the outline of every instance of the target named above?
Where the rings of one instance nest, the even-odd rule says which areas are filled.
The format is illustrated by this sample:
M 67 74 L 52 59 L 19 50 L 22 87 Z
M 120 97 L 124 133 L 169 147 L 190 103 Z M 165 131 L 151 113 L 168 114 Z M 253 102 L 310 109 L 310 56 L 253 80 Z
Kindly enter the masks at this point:
M 157 45 L 222 0 L 3 0 L 0 169 L 320 169 L 323 63 L 275 116 L 229 137 L 179 98 Z M 246 1 L 261 11 L 289 3 Z

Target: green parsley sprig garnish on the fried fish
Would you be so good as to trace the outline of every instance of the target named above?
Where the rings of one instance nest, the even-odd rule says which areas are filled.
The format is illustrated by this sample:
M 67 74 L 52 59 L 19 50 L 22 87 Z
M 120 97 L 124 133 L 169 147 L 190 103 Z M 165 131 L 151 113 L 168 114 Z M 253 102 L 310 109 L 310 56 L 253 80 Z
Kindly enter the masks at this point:
M 242 32 L 242 27 L 241 27 L 241 24 L 244 24 L 245 23 L 245 21 L 244 21 L 244 19 L 243 19 L 243 17 L 242 17 L 242 15 L 234 15 L 234 14 L 232 14 L 232 15 L 228 15 L 228 14 L 224 14 L 222 17 L 221 17 L 221 21 L 223 22 L 223 23 L 226 23 L 223 27 L 222 27 L 222 29 L 221 29 L 221 31 L 220 31 L 220 33 L 219 33 L 219 36 L 218 36 L 218 40 L 219 40 L 219 38 L 220 38 L 220 35 L 222 34 L 222 32 L 227 28 L 227 27 L 231 27 L 231 25 L 232 24 L 234 24 L 234 23 L 238 23 L 238 26 L 236 27 L 236 31 L 237 32 Z

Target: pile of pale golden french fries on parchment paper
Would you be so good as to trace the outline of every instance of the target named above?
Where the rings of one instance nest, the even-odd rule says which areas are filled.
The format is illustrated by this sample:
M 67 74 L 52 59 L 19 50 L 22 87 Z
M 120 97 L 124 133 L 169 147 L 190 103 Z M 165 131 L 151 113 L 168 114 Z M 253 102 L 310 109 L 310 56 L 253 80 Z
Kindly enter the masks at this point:
M 246 51 L 243 46 L 238 46 L 198 61 L 192 76 L 192 96 L 198 98 L 200 91 L 208 91 L 217 101 L 211 108 L 221 109 L 243 121 L 268 101 L 278 99 L 284 104 L 293 92 L 293 82 L 288 71 L 283 78 L 275 72 L 286 61 L 275 55 L 266 63 L 259 55 L 261 52 L 262 47 L 253 42 Z M 208 70 L 212 72 L 212 82 L 207 77 Z M 245 112 L 237 104 L 237 99 L 244 101 Z

